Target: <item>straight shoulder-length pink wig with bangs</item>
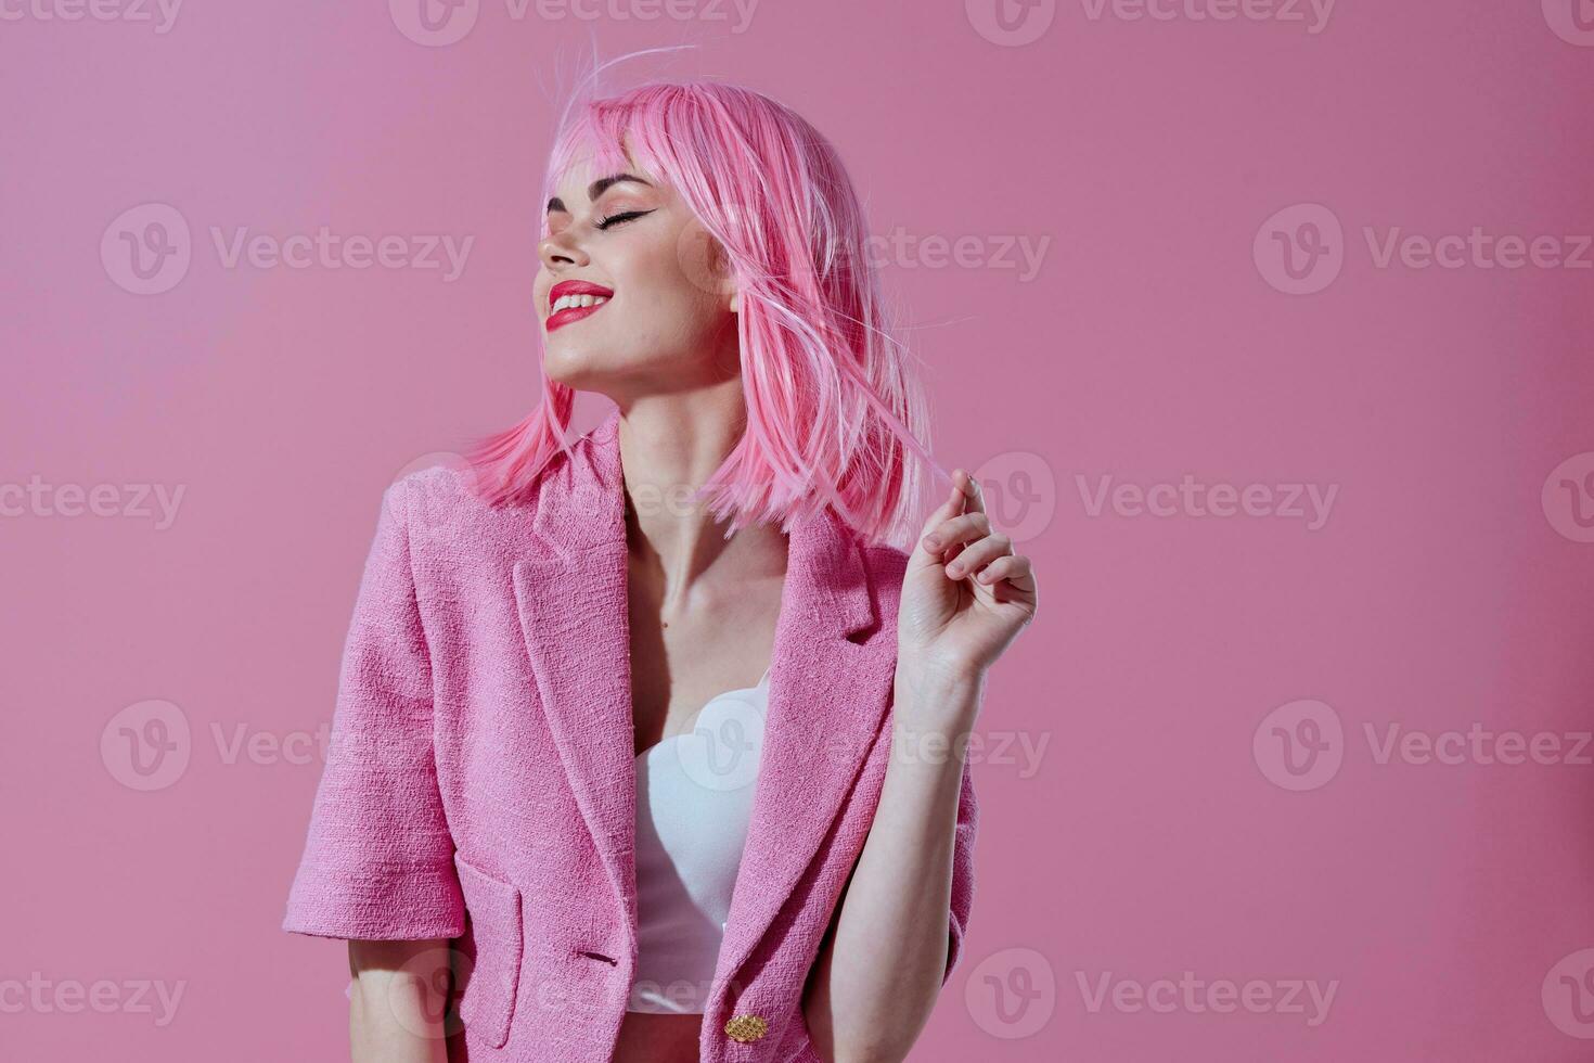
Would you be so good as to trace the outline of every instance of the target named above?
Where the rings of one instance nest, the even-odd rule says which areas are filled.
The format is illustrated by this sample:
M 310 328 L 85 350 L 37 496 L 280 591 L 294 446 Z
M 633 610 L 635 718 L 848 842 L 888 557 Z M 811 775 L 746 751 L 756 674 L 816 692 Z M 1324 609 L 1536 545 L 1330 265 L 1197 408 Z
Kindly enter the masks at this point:
M 650 81 L 567 107 L 542 201 L 583 150 L 599 174 L 641 167 L 666 182 L 728 258 L 748 422 L 695 497 L 730 523 L 727 535 L 765 521 L 789 532 L 834 505 L 866 542 L 905 548 L 923 488 L 907 451 L 937 469 L 928 410 L 889 335 L 862 206 L 835 148 L 751 89 Z M 547 376 L 542 389 L 531 416 L 469 454 L 493 505 L 528 497 L 569 449 L 575 392 Z

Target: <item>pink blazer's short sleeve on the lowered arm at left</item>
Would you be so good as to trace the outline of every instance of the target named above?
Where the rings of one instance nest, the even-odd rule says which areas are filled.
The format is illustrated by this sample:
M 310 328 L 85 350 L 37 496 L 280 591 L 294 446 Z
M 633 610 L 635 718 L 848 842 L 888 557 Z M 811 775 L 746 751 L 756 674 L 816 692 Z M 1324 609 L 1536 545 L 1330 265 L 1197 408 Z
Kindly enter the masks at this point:
M 410 567 L 406 481 L 383 494 L 344 641 L 327 765 L 282 929 L 422 940 L 464 932 L 437 784 L 432 661 Z

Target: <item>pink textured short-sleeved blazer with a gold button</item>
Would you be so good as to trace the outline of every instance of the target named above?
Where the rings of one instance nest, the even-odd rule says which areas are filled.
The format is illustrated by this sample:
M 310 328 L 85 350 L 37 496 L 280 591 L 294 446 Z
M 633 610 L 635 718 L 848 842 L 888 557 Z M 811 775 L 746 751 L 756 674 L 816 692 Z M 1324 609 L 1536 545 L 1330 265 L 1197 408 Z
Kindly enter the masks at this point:
M 440 465 L 395 481 L 360 582 L 284 929 L 459 939 L 454 1060 L 606 1061 L 625 1017 L 636 762 L 617 426 L 555 457 L 526 505 L 493 510 Z M 705 1063 L 819 1058 L 802 991 L 880 800 L 905 563 L 829 510 L 792 529 Z M 976 816 L 964 768 L 947 975 Z

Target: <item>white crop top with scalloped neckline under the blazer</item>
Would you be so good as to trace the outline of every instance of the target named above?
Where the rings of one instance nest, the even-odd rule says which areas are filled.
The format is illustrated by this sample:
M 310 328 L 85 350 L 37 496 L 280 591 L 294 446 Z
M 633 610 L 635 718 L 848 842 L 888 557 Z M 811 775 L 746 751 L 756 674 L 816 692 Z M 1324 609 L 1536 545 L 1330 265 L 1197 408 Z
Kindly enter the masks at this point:
M 770 673 L 636 757 L 636 980 L 626 1010 L 701 1015 L 764 751 Z

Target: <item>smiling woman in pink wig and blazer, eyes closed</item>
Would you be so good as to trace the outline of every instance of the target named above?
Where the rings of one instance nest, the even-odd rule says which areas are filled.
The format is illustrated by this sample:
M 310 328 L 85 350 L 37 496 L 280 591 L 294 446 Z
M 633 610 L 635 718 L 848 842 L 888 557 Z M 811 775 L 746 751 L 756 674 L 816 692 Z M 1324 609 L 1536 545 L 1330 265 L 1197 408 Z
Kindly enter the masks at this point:
M 544 402 L 386 494 L 284 926 L 349 940 L 362 1061 L 901 1060 L 1030 561 L 963 470 L 913 520 L 923 398 L 802 118 L 591 100 L 548 191 Z

